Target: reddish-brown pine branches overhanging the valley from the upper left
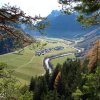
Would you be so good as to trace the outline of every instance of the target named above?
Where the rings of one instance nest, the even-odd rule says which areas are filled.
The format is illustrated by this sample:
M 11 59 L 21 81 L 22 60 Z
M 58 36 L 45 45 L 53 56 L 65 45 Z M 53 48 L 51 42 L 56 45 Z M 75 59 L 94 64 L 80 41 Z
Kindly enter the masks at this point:
M 13 42 L 20 46 L 34 42 L 32 38 L 22 31 L 21 26 L 19 26 L 20 28 L 17 28 L 16 26 L 26 24 L 30 29 L 39 30 L 41 32 L 41 30 L 43 30 L 47 25 L 47 23 L 39 23 L 39 21 L 43 19 L 45 18 L 41 16 L 28 16 L 20 8 L 5 4 L 0 8 L 0 41 L 13 38 Z

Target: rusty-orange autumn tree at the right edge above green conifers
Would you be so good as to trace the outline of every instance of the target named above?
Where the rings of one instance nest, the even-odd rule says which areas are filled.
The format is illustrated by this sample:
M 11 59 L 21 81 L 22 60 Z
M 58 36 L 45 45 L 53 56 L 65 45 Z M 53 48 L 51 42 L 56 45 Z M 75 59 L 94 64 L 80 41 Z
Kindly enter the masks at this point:
M 97 40 L 93 44 L 93 47 L 88 51 L 87 59 L 89 60 L 88 70 L 89 72 L 92 72 L 95 69 L 97 63 L 100 62 L 100 40 Z

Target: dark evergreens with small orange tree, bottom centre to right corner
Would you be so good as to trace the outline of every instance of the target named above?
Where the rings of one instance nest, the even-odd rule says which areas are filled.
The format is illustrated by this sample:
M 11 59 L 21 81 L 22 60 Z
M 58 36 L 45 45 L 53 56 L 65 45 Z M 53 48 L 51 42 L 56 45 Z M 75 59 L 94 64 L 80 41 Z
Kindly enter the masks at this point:
M 88 61 L 65 61 L 50 75 L 31 78 L 29 90 L 33 100 L 99 100 L 100 65 L 95 73 L 88 71 Z

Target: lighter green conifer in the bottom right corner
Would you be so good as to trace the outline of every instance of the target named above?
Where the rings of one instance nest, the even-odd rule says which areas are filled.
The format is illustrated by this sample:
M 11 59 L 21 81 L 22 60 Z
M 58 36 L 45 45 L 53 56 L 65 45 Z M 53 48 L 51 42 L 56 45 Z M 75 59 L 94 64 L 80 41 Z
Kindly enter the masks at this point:
M 100 98 L 100 66 L 95 73 L 83 73 L 79 87 L 82 99 L 99 100 Z

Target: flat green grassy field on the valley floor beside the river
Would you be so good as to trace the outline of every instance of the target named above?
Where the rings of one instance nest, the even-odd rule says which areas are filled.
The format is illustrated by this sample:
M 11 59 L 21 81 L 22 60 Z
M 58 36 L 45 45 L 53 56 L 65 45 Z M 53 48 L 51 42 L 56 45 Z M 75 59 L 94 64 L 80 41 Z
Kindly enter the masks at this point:
M 45 43 L 45 40 L 42 40 L 41 43 Z M 48 47 L 56 47 L 56 46 L 64 46 L 65 49 L 60 51 L 52 51 L 50 53 L 47 53 L 45 55 L 41 56 L 35 56 L 35 51 L 39 49 L 39 47 L 33 49 L 33 44 L 30 46 L 27 46 L 24 48 L 24 51 L 21 52 L 21 54 L 18 53 L 8 53 L 4 55 L 0 55 L 0 62 L 7 63 L 10 67 L 9 69 L 14 70 L 14 76 L 19 79 L 22 83 L 28 83 L 30 78 L 32 76 L 39 76 L 45 73 L 45 70 L 43 68 L 43 59 L 47 56 L 51 56 L 53 54 L 59 54 L 63 52 L 73 51 L 73 48 L 68 47 L 64 43 L 47 43 L 47 45 L 43 48 Z M 73 55 L 72 55 L 73 57 Z M 66 59 L 66 57 L 63 58 L 57 58 L 52 60 L 52 63 L 54 66 L 56 66 L 57 62 L 60 62 L 61 64 Z

